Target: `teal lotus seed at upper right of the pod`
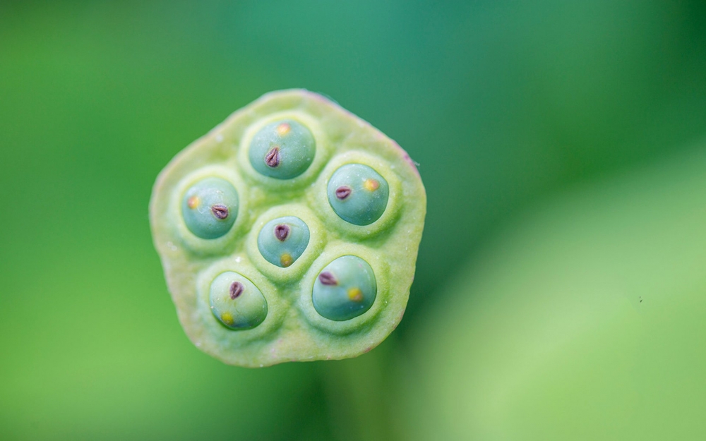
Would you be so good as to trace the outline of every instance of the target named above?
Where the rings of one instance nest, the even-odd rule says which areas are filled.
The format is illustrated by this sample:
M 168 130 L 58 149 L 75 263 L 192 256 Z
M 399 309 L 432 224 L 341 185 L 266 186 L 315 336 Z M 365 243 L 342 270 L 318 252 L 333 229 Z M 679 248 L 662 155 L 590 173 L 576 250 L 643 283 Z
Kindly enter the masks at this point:
M 346 164 L 328 181 L 328 202 L 346 222 L 368 225 L 378 220 L 388 205 L 388 181 L 363 164 Z

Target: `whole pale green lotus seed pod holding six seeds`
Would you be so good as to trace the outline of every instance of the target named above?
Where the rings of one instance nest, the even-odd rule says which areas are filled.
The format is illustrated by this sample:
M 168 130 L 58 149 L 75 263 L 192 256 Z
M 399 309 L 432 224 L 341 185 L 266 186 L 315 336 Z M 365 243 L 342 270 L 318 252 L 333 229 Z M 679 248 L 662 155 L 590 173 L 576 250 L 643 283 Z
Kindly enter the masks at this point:
M 380 344 L 405 312 L 425 214 L 404 150 L 305 90 L 232 114 L 172 159 L 150 201 L 186 334 L 250 367 Z

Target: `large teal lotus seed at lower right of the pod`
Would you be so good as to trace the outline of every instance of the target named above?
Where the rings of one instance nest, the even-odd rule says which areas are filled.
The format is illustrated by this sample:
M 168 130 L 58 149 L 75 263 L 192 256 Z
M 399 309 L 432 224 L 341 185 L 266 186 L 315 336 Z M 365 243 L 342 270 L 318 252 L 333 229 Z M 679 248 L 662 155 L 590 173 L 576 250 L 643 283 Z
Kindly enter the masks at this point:
M 344 255 L 318 274 L 311 299 L 317 313 L 341 322 L 369 310 L 377 291 L 375 274 L 368 262 L 354 255 Z

